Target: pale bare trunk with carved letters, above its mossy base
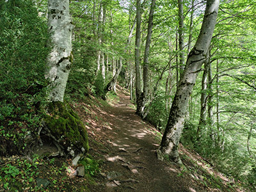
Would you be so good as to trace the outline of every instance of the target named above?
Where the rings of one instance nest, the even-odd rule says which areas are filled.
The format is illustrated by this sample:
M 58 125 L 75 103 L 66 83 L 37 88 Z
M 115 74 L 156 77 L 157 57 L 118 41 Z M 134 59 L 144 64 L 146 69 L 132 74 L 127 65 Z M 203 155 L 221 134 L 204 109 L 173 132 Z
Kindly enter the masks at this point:
M 72 65 L 72 29 L 69 0 L 48 1 L 48 28 L 52 51 L 48 56 L 45 78 L 49 80 L 49 100 L 63 102 Z

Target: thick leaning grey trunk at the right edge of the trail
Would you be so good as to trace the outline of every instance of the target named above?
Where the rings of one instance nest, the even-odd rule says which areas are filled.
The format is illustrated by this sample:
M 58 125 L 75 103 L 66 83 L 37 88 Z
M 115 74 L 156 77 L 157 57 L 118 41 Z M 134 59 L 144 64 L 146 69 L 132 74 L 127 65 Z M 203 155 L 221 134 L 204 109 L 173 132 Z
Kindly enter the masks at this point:
M 195 86 L 196 76 L 201 70 L 202 64 L 206 59 L 207 50 L 211 44 L 219 4 L 220 0 L 207 0 L 202 28 L 195 47 L 189 53 L 186 67 L 173 99 L 161 145 L 157 150 L 158 159 L 163 160 L 164 156 L 168 156 L 175 163 L 182 164 L 178 152 L 180 135 L 184 127 L 184 118 L 188 110 L 189 97 Z

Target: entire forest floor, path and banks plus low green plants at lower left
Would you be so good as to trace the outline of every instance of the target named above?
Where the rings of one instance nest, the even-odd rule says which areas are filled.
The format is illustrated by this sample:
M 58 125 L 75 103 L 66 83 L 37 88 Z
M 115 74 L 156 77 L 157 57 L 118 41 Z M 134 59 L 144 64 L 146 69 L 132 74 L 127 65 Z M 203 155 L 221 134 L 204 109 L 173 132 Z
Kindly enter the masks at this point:
M 117 88 L 117 95 L 109 93 L 107 101 L 90 96 L 72 103 L 88 131 L 87 157 L 95 159 L 99 167 L 86 166 L 85 177 L 70 177 L 72 159 L 66 157 L 0 157 L 0 192 L 248 191 L 181 144 L 180 158 L 186 169 L 168 159 L 159 161 L 156 149 L 161 133 L 135 115 L 129 93 Z M 52 145 L 46 144 L 42 150 L 49 154 Z

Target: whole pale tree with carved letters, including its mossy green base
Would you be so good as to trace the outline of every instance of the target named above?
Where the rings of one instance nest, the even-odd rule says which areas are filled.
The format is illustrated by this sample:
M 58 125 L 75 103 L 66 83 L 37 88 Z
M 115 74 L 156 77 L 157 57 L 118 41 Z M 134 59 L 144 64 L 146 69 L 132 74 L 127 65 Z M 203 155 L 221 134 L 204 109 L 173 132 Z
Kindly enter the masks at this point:
M 69 0 L 49 0 L 48 27 L 52 51 L 48 57 L 49 105 L 45 108 L 44 134 L 58 147 L 58 154 L 88 152 L 88 135 L 83 122 L 63 102 L 68 74 L 72 65 L 72 28 Z M 44 142 L 43 142 L 44 143 Z

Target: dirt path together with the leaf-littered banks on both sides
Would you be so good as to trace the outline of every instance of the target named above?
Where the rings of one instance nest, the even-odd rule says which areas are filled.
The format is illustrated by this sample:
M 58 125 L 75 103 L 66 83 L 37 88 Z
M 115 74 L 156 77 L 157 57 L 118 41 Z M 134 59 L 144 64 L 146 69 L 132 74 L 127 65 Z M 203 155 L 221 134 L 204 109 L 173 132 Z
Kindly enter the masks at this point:
M 180 144 L 180 157 L 186 169 L 159 161 L 156 149 L 161 134 L 135 115 L 129 93 L 118 86 L 116 99 L 104 104 L 82 104 L 76 111 L 88 129 L 90 152 L 103 161 L 101 172 L 90 191 L 200 192 L 243 191 L 196 152 Z M 81 105 L 81 104 L 79 104 Z M 239 185 L 238 185 L 239 186 Z

